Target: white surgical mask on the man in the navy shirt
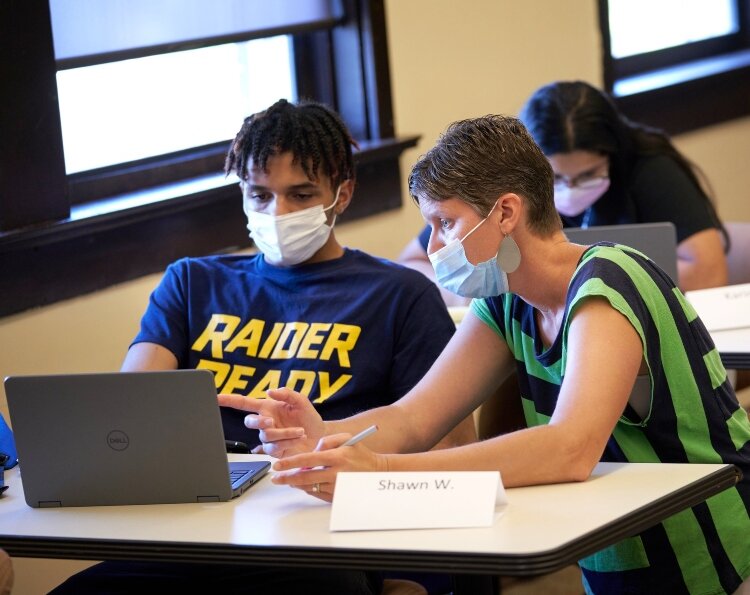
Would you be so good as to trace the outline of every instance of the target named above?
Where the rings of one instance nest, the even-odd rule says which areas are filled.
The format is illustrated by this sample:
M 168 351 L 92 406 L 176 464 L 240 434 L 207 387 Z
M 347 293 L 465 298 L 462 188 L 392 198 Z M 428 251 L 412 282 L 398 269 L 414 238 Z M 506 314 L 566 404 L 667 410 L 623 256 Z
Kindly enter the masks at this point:
M 336 216 L 329 226 L 326 211 L 336 206 L 340 191 L 339 186 L 330 207 L 324 209 L 323 205 L 315 205 L 278 216 L 253 211 L 245 202 L 243 206 L 250 239 L 271 264 L 293 266 L 309 260 L 331 235 Z

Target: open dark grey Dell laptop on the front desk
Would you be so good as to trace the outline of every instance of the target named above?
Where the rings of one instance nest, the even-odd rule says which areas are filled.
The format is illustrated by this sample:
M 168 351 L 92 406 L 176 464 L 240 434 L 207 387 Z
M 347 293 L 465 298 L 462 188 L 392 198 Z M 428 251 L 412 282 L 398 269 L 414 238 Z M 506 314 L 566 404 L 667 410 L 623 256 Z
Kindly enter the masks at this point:
M 5 392 L 34 508 L 226 501 L 270 467 L 227 463 L 208 370 L 10 376 Z

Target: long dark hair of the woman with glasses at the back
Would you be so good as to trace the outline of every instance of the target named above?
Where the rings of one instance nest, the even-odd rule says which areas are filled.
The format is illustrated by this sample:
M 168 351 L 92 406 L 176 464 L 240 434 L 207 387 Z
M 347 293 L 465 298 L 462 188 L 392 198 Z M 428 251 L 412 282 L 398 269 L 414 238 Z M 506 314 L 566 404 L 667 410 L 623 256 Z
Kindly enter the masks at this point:
M 629 120 L 603 91 L 583 81 L 545 85 L 528 99 L 521 120 L 547 156 L 571 151 L 606 155 L 612 190 L 617 193 L 625 192 L 639 157 L 670 157 L 706 200 L 728 250 L 727 232 L 709 198 L 710 185 L 700 168 L 682 155 L 663 131 Z

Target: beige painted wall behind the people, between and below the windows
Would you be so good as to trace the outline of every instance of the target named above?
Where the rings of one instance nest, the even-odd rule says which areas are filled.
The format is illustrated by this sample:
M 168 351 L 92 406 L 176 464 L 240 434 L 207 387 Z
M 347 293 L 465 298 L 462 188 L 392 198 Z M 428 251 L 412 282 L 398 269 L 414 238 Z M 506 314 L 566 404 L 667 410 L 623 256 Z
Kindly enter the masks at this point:
M 423 136 L 402 159 L 404 177 L 452 120 L 515 114 L 534 89 L 554 79 L 601 83 L 595 2 L 387 0 L 386 9 L 396 128 Z M 720 214 L 750 221 L 750 118 L 676 142 L 709 176 Z M 337 234 L 344 244 L 395 258 L 420 227 L 405 199 L 401 210 L 342 225 Z M 0 376 L 118 369 L 158 279 L 0 319 Z M 7 415 L 4 400 L 0 392 Z M 65 571 L 30 562 L 19 561 L 19 595 L 49 588 Z

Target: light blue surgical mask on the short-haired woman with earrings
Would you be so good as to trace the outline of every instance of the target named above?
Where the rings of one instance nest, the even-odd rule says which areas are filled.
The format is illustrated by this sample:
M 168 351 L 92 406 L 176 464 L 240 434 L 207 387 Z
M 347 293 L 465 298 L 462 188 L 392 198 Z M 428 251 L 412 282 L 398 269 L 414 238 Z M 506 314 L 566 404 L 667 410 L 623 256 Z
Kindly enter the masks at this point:
M 500 251 L 498 251 L 498 256 L 477 265 L 472 264 L 466 258 L 464 240 L 485 221 L 487 218 L 477 223 L 474 229 L 460 240 L 453 240 L 429 255 L 437 282 L 448 291 L 462 297 L 494 297 L 509 291 L 508 275 L 500 267 L 498 260 Z M 513 244 L 515 245 L 515 242 Z M 500 246 L 502 249 L 502 244 Z

